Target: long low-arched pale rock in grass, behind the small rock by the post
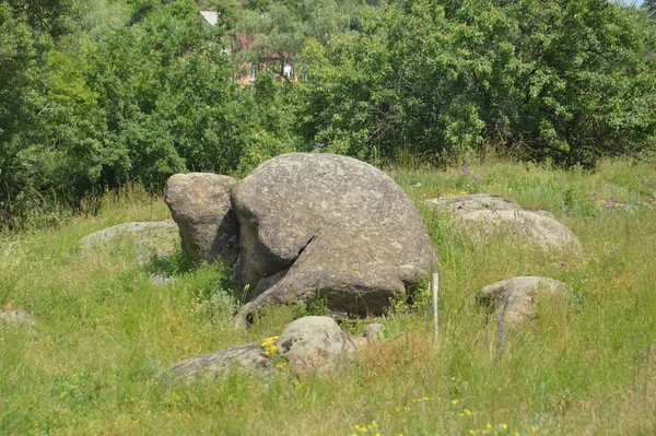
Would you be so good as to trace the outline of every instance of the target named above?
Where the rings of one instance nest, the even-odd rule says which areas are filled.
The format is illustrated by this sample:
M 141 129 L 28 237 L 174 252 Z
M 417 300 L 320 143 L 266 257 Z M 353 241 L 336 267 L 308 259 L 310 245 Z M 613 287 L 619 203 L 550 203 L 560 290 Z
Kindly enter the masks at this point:
M 475 240 L 499 233 L 535 244 L 539 247 L 583 256 L 583 246 L 567 227 L 550 216 L 529 211 L 469 212 L 452 221 Z

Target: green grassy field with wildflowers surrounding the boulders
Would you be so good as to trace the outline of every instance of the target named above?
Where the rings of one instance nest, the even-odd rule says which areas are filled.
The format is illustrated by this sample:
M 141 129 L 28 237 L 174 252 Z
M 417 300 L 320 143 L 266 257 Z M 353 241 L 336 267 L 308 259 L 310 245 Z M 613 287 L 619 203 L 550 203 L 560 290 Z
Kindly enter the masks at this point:
M 180 360 L 278 334 L 281 307 L 248 331 L 231 327 L 234 292 L 220 266 L 190 270 L 181 252 L 147 266 L 130 243 L 93 251 L 82 236 L 168 216 L 139 189 L 106 196 L 94 216 L 0 235 L 0 434 L 8 435 L 654 435 L 656 434 L 656 163 L 604 162 L 595 173 L 495 160 L 389 174 L 414 199 L 435 244 L 440 341 L 425 311 L 396 305 L 386 337 L 340 375 L 262 380 L 231 374 L 162 382 Z M 475 245 L 421 200 L 491 192 L 552 212 L 587 261 L 501 238 Z M 602 201 L 646 204 L 625 211 Z M 152 275 L 173 281 L 154 284 Z M 470 304 L 515 275 L 570 284 L 562 307 L 506 329 Z M 344 326 L 359 332 L 366 320 Z

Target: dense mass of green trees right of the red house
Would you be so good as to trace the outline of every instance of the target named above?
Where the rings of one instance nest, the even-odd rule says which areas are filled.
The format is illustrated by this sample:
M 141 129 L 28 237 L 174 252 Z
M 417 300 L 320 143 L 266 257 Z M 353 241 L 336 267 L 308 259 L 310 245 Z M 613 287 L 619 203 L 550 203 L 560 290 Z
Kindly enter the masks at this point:
M 591 165 L 653 141 L 654 44 L 639 13 L 604 0 L 393 2 L 306 47 L 298 129 L 359 157 L 494 143 Z

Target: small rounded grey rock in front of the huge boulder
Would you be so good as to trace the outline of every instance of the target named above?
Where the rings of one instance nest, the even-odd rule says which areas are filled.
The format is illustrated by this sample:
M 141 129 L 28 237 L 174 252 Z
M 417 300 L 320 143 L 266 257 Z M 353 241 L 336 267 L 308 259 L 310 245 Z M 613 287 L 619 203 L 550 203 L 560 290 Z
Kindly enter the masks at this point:
M 330 317 L 296 319 L 280 334 L 276 345 L 296 373 L 339 369 L 356 353 L 355 343 Z

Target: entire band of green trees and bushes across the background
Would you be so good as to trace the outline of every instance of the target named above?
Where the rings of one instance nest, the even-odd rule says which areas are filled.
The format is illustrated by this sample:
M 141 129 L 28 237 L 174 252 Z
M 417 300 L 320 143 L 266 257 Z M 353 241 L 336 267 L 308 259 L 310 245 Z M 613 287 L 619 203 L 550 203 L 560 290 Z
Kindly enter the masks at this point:
M 644 10 L 197 3 L 0 1 L 0 226 L 57 222 L 83 196 L 128 182 L 157 191 L 176 172 L 245 174 L 295 150 L 434 162 L 493 145 L 593 167 L 655 143 L 656 39 Z M 246 62 L 270 73 L 237 85 Z

